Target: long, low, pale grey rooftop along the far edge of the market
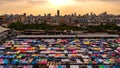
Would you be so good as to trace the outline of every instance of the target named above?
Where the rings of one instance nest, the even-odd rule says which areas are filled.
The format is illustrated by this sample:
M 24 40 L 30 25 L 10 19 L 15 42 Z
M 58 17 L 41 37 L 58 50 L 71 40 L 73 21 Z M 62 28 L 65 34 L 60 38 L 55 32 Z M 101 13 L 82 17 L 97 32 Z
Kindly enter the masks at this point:
M 18 35 L 17 38 L 75 38 L 76 35 Z M 85 34 L 85 35 L 77 35 L 78 38 L 92 38 L 92 37 L 113 37 L 117 38 L 119 35 L 116 34 Z

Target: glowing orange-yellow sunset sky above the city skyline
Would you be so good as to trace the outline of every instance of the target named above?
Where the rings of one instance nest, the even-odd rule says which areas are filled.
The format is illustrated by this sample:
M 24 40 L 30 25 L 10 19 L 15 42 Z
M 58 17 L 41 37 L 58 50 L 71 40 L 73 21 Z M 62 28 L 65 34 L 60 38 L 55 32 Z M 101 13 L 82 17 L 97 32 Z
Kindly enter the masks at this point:
M 120 14 L 120 0 L 0 0 L 0 14 Z

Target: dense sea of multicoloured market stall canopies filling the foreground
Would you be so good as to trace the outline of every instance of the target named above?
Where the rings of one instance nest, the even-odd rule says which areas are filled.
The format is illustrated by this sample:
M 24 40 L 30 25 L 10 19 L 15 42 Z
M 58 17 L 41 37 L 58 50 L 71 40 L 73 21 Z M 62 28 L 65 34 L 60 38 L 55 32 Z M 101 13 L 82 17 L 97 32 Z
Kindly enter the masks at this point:
M 0 46 L 0 64 L 120 68 L 120 39 L 13 39 Z

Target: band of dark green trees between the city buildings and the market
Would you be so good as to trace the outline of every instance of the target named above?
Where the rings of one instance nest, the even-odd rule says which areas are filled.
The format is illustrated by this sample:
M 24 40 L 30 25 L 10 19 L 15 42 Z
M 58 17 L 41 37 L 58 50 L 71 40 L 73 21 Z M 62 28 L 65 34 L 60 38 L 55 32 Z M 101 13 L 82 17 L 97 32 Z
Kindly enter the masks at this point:
M 46 23 L 42 24 L 22 24 L 22 23 L 12 23 L 9 25 L 9 28 L 16 30 L 26 30 L 26 29 L 41 29 L 41 30 L 118 30 L 120 27 L 116 24 L 107 24 L 100 26 L 88 26 L 87 28 L 77 27 L 77 26 L 68 26 L 66 24 L 60 24 L 56 26 L 51 26 Z

